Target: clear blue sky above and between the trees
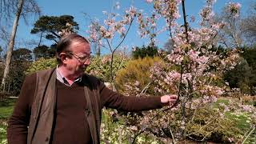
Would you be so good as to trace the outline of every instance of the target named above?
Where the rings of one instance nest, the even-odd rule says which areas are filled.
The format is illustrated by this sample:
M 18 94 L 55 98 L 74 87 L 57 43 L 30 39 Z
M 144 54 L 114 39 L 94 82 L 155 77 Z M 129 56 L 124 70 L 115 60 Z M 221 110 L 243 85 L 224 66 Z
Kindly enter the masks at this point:
M 69 14 L 74 16 L 74 21 L 78 22 L 80 30 L 78 34 L 82 34 L 83 36 L 88 36 L 86 30 L 88 30 L 88 26 L 90 21 L 86 18 L 85 13 L 90 15 L 91 18 L 98 18 L 99 20 L 105 18 L 102 14 L 103 10 L 111 11 L 113 10 L 112 7 L 116 2 L 120 3 L 121 8 L 117 11 L 121 13 L 122 10 L 125 10 L 127 7 L 133 5 L 138 10 L 142 9 L 145 13 L 150 14 L 152 9 L 152 4 L 148 4 L 145 0 L 36 0 L 38 2 L 38 6 L 42 10 L 42 15 L 49 15 L 49 16 L 60 16 L 63 14 Z M 225 6 L 228 2 L 239 2 L 242 4 L 242 14 L 246 14 L 248 11 L 250 4 L 254 2 L 254 0 L 217 0 L 214 5 L 214 12 L 219 13 L 222 10 L 222 7 Z M 198 19 L 198 13 L 204 6 L 205 0 L 186 0 L 186 14 L 190 17 L 191 15 Z M 181 8 L 180 8 L 181 10 Z M 18 33 L 16 38 L 16 45 L 15 47 L 27 47 L 30 49 L 34 48 L 34 45 L 27 44 L 28 41 L 38 42 L 38 35 L 30 34 L 30 30 L 33 28 L 33 23 L 38 18 L 30 17 L 28 25 L 24 23 L 21 19 L 19 26 L 18 26 Z M 11 30 L 11 28 L 10 28 Z M 159 47 L 162 47 L 164 43 L 167 41 L 168 36 L 166 34 L 160 34 L 158 36 L 158 43 Z M 46 45 L 50 45 L 50 42 L 45 40 Z M 2 43 L 0 42 L 2 45 Z M 148 40 L 139 38 L 137 34 L 136 26 L 134 26 L 130 33 L 127 35 L 123 46 L 127 46 L 128 48 L 132 46 L 142 46 L 147 45 Z

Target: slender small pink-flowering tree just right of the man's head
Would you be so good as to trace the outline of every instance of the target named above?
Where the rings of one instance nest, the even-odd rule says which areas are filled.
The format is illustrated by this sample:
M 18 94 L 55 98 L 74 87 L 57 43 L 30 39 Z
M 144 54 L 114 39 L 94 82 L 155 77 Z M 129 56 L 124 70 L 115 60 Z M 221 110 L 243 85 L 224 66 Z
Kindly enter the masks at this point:
M 119 8 L 119 6 L 115 7 Z M 101 25 L 100 22 L 92 22 L 88 32 L 90 34 L 90 42 L 95 42 L 99 46 L 110 50 L 110 82 L 113 82 L 114 52 L 122 46 L 122 42 L 124 42 L 126 35 L 130 30 L 130 26 L 134 22 L 137 11 L 131 6 L 122 16 L 114 13 L 108 14 L 106 11 L 103 11 L 103 14 L 106 14 L 104 23 Z M 114 38 L 116 38 L 117 41 L 113 41 Z

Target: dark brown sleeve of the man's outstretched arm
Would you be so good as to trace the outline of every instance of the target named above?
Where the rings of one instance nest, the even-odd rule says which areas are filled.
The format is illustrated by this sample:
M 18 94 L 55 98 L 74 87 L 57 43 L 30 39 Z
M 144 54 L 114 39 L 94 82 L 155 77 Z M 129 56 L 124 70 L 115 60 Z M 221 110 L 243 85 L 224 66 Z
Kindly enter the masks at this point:
M 102 106 L 126 111 L 142 111 L 162 108 L 161 98 L 157 96 L 146 98 L 126 97 L 108 89 L 102 82 L 100 82 L 99 89 Z

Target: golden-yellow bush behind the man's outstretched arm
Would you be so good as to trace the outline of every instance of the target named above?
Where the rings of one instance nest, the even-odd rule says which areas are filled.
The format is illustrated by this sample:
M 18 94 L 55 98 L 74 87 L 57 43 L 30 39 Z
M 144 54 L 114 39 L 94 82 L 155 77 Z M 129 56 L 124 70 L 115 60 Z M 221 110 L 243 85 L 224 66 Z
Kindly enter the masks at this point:
M 161 62 L 161 59 L 146 57 L 128 62 L 126 68 L 118 71 L 115 78 L 117 89 L 124 92 L 127 89 L 126 85 L 134 84 L 139 90 L 142 90 L 151 81 L 150 67 L 155 62 Z

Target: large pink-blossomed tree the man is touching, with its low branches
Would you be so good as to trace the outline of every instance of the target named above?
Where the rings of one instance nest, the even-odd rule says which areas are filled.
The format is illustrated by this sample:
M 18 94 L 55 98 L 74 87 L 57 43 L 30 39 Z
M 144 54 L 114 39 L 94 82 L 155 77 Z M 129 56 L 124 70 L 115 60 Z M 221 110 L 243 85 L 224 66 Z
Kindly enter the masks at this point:
M 138 13 L 139 31 L 141 37 L 150 36 L 150 43 L 156 34 L 156 20 L 164 18 L 166 26 L 159 32 L 166 30 L 174 43 L 174 49 L 166 56 L 166 63 L 158 63 L 151 69 L 152 82 L 155 85 L 155 94 L 178 94 L 179 103 L 177 106 L 170 106 L 163 110 L 153 110 L 133 116 L 130 126 L 131 141 L 136 142 L 142 134 L 153 134 L 162 142 L 170 143 L 181 141 L 185 138 L 194 141 L 205 141 L 212 137 L 212 134 L 223 134 L 230 142 L 238 139 L 245 140 L 246 137 L 234 137 L 234 133 L 241 133 L 234 128 L 234 123 L 225 117 L 230 110 L 245 110 L 252 114 L 252 106 L 241 104 L 226 105 L 220 103 L 214 108 L 210 103 L 216 102 L 217 98 L 225 94 L 226 83 L 222 81 L 222 74 L 226 70 L 233 69 L 239 62 L 238 50 L 233 49 L 226 54 L 218 54 L 216 48 L 217 35 L 225 26 L 223 22 L 214 21 L 212 6 L 214 0 L 206 0 L 206 6 L 200 11 L 200 28 L 189 29 L 186 21 L 186 9 L 184 0 L 148 0 L 154 3 L 154 14 L 152 17 L 143 17 Z M 184 24 L 178 25 L 176 20 L 180 17 L 178 6 L 182 3 L 182 15 Z M 230 2 L 226 6 L 226 12 L 230 17 L 238 17 L 240 5 Z M 138 83 L 128 87 L 126 95 L 146 96 L 146 90 L 138 90 Z M 231 102 L 232 103 L 232 102 Z M 241 111 L 240 111 L 241 112 Z M 202 118 L 202 115 L 208 115 Z M 126 117 L 125 119 L 129 119 Z M 135 121 L 135 123 L 134 123 Z M 250 134 L 254 130 L 248 131 Z M 226 128 L 225 128 L 226 127 Z M 234 133 L 228 130 L 230 129 Z

